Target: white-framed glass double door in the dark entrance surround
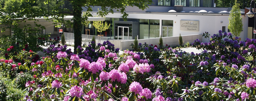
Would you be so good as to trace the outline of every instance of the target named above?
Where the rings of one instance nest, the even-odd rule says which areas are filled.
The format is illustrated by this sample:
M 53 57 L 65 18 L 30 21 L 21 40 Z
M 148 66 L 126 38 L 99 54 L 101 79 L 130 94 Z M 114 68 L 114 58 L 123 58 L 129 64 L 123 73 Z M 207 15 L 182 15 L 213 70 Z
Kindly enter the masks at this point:
M 130 28 L 131 29 L 131 28 Z M 129 32 L 130 31 L 130 32 Z M 131 30 L 129 30 L 129 27 L 119 27 L 118 26 L 118 39 L 128 40 L 131 39 Z

